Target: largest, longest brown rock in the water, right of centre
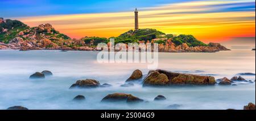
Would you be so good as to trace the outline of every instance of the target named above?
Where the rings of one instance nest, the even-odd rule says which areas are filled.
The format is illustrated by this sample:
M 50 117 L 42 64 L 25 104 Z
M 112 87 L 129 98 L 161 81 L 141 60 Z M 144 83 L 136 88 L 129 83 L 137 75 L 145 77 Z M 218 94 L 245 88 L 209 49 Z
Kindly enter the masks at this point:
M 147 75 L 143 80 L 143 86 L 167 86 L 167 85 L 214 85 L 212 76 L 200 76 L 181 74 L 166 70 L 156 70 Z

